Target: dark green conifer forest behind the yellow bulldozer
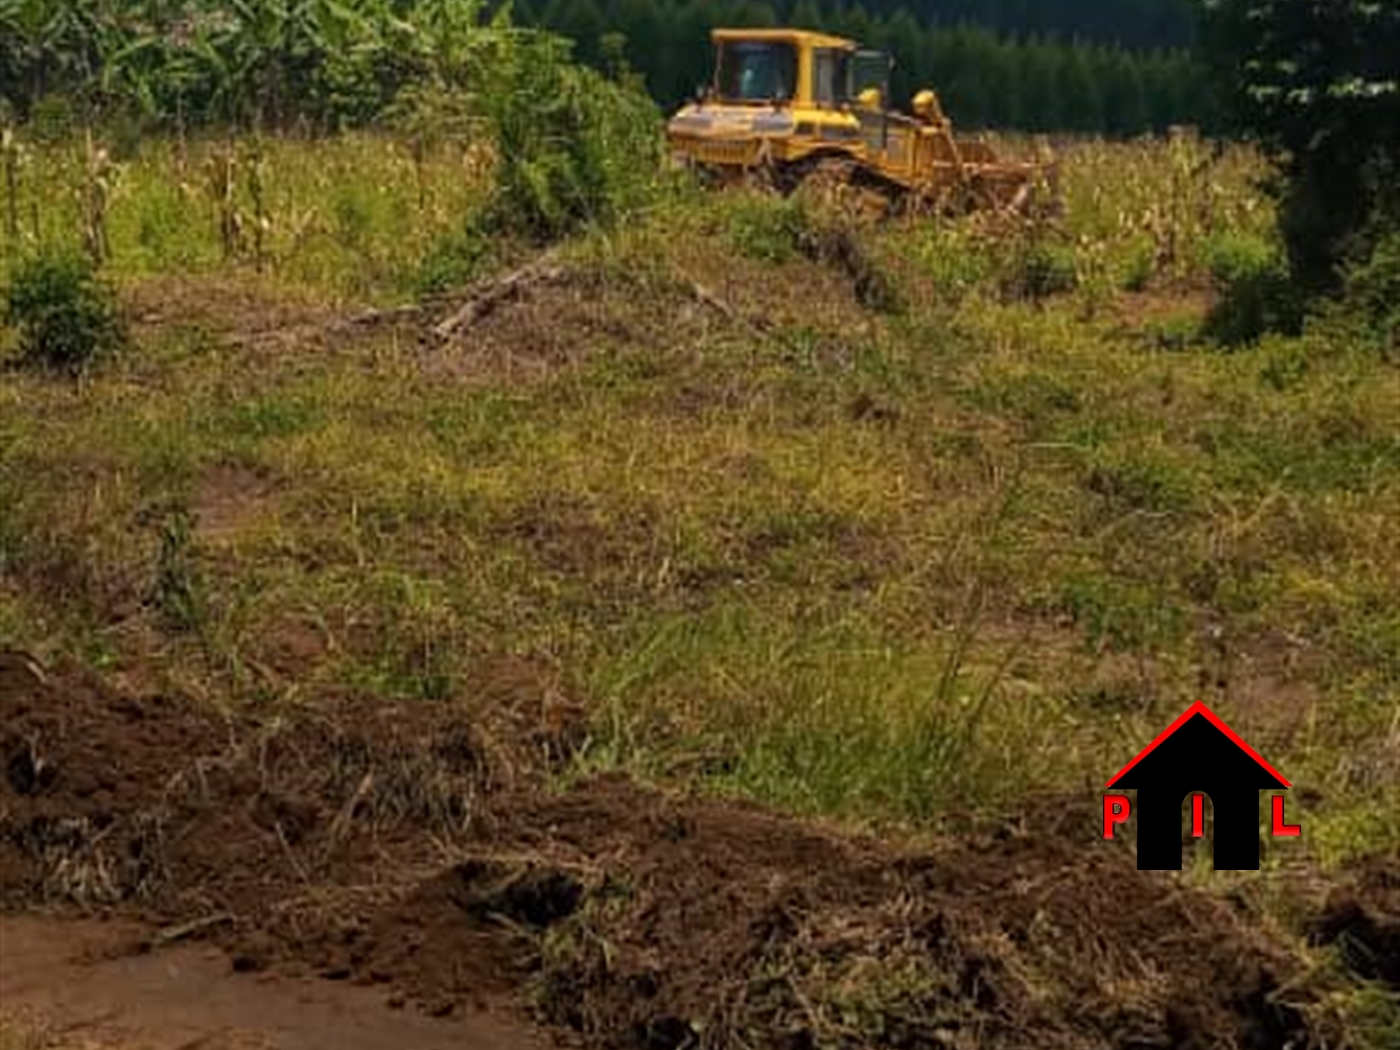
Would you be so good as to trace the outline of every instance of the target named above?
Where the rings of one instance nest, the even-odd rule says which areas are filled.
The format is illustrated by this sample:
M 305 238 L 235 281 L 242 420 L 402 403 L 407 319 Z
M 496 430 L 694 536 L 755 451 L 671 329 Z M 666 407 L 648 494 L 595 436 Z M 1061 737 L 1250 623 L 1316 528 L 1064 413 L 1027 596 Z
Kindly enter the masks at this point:
M 822 7 L 815 0 L 517 0 L 512 10 L 517 18 L 573 39 L 585 62 L 608 67 L 624 59 L 666 106 L 707 78 L 711 27 L 787 24 L 889 50 L 896 59 L 896 102 L 903 104 L 920 87 L 935 87 L 953 119 L 969 127 L 1135 134 L 1214 120 L 1210 90 L 1186 49 L 1135 49 L 1109 39 L 1133 36 L 1131 3 L 1102 8 L 1047 3 L 1002 35 L 972 21 L 927 22 L 910 8 L 882 6 L 888 14 L 875 6 Z M 931 7 L 942 18 L 965 8 L 974 11 L 979 4 L 959 0 Z M 1142 0 L 1142 7 L 1179 15 L 1182 4 Z M 1012 4 L 1001 0 L 987 8 L 1000 17 Z M 1063 22 L 1047 21 L 1046 14 L 1056 8 L 1064 14 Z M 1117 21 L 1106 15 L 1114 8 Z M 1089 27 L 1078 15 L 1089 10 L 1099 13 L 1105 39 L 1078 35 Z M 1163 29 L 1162 38 L 1177 42 L 1183 34 L 1176 25 L 1170 32 Z

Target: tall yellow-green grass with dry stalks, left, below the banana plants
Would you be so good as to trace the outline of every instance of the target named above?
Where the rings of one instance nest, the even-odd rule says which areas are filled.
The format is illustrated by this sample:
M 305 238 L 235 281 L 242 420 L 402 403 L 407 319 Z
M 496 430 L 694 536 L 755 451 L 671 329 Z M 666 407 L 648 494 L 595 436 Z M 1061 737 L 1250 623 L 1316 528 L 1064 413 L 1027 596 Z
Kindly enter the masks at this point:
M 472 146 L 419 155 L 361 133 L 314 144 L 141 140 L 97 161 L 80 140 L 21 155 L 20 237 L 0 230 L 0 274 L 42 245 L 81 245 L 94 186 L 106 199 L 111 269 L 125 279 L 258 270 L 284 291 L 378 301 L 469 276 L 480 260 L 469 228 L 489 164 Z

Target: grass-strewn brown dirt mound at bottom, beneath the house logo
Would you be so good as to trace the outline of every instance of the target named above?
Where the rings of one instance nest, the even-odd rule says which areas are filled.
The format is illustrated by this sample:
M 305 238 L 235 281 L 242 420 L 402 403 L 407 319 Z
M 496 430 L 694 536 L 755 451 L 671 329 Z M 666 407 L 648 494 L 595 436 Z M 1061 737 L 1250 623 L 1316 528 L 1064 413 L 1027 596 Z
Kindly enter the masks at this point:
M 923 853 L 598 781 L 517 836 L 601 869 L 542 963 L 599 1044 L 1280 1046 L 1291 963 L 1112 850 Z

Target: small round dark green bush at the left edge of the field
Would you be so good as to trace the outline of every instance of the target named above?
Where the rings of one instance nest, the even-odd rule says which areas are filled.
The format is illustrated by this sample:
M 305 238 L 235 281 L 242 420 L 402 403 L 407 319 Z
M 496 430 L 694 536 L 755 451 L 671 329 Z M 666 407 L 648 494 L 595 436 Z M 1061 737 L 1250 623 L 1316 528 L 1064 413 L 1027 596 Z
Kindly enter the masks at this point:
M 25 364 L 69 372 L 126 342 L 116 295 L 92 263 L 74 255 L 39 255 L 17 269 L 4 322 L 20 333 Z

